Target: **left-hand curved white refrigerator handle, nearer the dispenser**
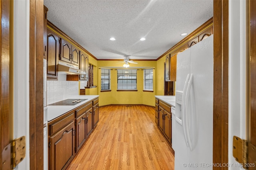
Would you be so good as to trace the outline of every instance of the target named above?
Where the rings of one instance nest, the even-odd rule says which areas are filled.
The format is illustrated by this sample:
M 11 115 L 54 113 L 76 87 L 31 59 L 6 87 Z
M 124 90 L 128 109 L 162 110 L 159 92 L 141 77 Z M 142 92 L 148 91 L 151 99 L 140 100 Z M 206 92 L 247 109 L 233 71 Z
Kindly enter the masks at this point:
M 187 75 L 184 88 L 183 88 L 183 94 L 182 94 L 182 103 L 181 103 L 181 116 L 182 116 L 182 127 L 183 127 L 183 132 L 184 132 L 184 137 L 185 137 L 185 143 L 188 147 L 188 136 L 187 136 L 187 124 L 186 124 L 186 109 L 185 109 L 185 100 L 186 100 L 186 91 L 188 87 L 188 81 L 189 81 L 190 75 Z

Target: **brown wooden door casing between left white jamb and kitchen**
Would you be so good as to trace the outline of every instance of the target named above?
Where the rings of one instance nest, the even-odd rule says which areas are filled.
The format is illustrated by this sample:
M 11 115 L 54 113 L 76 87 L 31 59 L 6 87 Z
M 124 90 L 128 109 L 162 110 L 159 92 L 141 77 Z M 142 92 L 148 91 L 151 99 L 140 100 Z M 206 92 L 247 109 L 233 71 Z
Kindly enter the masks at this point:
M 44 1 L 30 0 L 29 41 L 29 141 L 30 169 L 44 168 L 43 31 Z

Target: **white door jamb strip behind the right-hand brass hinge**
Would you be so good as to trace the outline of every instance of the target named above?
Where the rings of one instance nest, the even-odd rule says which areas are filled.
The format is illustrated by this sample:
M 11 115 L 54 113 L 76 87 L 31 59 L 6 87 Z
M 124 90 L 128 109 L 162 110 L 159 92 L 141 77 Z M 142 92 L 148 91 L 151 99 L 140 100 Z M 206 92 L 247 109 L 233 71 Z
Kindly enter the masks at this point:
M 228 162 L 242 170 L 232 154 L 233 136 L 246 139 L 246 1 L 229 1 Z

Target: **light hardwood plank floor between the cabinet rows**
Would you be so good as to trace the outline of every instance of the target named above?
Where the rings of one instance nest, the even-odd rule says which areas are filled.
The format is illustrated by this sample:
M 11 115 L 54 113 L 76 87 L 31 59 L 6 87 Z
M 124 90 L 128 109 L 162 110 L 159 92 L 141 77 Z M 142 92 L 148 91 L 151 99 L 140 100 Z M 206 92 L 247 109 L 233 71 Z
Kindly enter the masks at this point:
M 100 107 L 100 121 L 67 170 L 174 170 L 149 106 Z

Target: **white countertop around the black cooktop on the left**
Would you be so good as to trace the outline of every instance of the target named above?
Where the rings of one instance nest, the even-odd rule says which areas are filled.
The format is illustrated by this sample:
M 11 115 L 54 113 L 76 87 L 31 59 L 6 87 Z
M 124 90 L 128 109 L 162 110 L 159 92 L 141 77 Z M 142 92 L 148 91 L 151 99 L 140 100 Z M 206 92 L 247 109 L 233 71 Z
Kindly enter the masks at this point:
M 54 105 L 47 105 L 47 120 L 51 121 L 52 119 L 55 119 L 56 117 L 59 117 L 60 115 L 63 115 L 64 113 L 67 113 L 70 110 L 75 109 L 76 107 L 79 107 L 94 98 L 97 98 L 99 95 L 74 95 L 69 96 L 69 99 L 88 99 L 84 100 L 83 102 L 73 105 L 73 106 L 54 106 Z M 64 99 L 65 100 L 65 99 Z

